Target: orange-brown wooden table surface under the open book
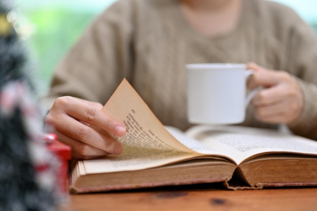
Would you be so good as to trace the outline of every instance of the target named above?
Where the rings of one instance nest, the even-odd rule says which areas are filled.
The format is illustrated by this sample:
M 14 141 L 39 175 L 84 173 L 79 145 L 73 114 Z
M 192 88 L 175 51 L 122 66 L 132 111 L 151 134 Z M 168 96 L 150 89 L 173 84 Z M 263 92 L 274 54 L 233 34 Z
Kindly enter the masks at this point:
M 211 187 L 161 188 L 69 195 L 62 211 L 86 210 L 317 210 L 317 188 L 232 191 Z

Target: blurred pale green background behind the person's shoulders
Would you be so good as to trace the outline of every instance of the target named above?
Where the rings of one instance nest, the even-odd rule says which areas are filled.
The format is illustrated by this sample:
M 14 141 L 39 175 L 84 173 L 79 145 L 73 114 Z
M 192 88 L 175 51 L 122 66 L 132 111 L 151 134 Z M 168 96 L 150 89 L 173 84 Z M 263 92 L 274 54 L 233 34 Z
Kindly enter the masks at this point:
M 116 0 L 16 0 L 22 37 L 32 50 L 45 92 L 52 72 L 87 25 Z M 275 0 L 291 6 L 317 32 L 317 1 Z

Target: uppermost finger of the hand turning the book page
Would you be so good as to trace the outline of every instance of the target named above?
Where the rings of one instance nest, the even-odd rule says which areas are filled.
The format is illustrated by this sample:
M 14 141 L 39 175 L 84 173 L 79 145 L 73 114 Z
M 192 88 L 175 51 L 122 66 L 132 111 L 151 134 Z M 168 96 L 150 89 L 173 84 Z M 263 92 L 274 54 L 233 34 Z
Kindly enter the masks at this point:
M 55 103 L 61 104 L 56 106 L 64 106 L 64 111 L 68 115 L 76 119 L 80 119 L 81 121 L 87 122 L 89 124 L 96 125 L 99 128 L 108 131 L 113 135 L 125 135 L 125 126 L 120 121 L 108 117 L 99 109 L 88 106 L 86 103 L 82 101 L 73 100 L 72 98 L 62 98 L 60 99 L 60 101 L 67 101 L 59 102 L 58 100 L 56 100 Z

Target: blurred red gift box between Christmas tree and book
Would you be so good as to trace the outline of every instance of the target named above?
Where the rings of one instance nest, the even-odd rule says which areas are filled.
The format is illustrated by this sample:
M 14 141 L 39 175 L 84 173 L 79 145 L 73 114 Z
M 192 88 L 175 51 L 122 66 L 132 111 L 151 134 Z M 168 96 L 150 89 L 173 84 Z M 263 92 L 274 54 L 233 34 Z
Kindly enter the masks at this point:
M 56 175 L 59 188 L 63 194 L 68 192 L 67 190 L 67 175 L 68 175 L 68 160 L 71 158 L 70 146 L 65 145 L 57 140 L 55 134 L 47 134 L 44 137 L 47 142 L 49 151 L 54 153 L 60 160 L 60 168 Z

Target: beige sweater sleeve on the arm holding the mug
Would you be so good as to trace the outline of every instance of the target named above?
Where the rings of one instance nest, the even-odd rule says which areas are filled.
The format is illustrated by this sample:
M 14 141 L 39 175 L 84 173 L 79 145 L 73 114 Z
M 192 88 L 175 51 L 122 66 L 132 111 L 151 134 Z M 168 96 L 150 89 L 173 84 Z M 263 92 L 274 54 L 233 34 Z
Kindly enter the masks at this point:
M 310 26 L 295 22 L 289 32 L 289 71 L 294 73 L 304 95 L 300 118 L 288 126 L 294 134 L 317 140 L 317 39 Z

